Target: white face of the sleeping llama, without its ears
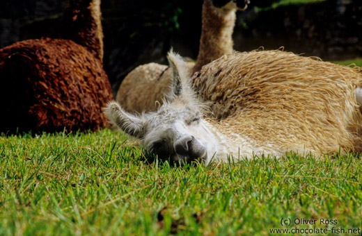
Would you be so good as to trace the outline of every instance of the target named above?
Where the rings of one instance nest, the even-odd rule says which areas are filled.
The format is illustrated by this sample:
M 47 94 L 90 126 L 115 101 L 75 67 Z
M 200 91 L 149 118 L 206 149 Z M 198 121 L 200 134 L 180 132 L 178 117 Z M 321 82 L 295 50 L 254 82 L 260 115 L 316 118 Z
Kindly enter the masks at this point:
M 180 105 L 180 104 L 178 104 Z M 149 114 L 141 142 L 146 150 L 173 162 L 192 162 L 207 158 L 207 129 L 198 110 L 174 108 L 168 103 Z

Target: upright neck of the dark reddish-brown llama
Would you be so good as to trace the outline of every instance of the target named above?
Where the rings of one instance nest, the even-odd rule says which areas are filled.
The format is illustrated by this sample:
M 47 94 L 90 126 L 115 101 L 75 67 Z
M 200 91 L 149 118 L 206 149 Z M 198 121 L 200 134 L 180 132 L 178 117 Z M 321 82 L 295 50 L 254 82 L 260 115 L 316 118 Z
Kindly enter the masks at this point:
M 103 59 L 101 0 L 69 0 L 63 16 L 64 37 Z

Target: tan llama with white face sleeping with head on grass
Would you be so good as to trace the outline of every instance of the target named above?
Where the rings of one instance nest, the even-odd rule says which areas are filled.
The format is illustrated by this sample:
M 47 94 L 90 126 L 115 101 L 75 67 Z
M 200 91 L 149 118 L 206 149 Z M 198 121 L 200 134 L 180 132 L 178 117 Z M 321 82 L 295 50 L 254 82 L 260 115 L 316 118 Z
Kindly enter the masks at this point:
M 105 108 L 112 124 L 159 157 L 207 164 L 229 155 L 362 151 L 359 68 L 251 51 L 223 56 L 189 78 L 180 56 L 168 60 L 173 85 L 157 112 L 131 115 L 116 102 Z

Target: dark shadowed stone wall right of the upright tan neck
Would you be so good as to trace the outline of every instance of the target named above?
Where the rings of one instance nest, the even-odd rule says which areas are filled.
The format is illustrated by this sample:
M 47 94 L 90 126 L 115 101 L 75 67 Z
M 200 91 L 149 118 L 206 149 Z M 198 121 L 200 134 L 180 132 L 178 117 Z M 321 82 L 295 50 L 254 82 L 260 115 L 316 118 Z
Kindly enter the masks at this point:
M 362 1 L 328 0 L 240 15 L 235 49 L 258 47 L 305 53 L 324 60 L 362 56 Z

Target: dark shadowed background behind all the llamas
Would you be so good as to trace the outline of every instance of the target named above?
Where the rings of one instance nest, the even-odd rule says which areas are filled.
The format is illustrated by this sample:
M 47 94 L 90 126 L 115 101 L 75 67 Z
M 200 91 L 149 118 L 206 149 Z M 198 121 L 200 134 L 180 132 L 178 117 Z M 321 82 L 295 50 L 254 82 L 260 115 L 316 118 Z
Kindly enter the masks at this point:
M 66 0 L 0 0 L 0 47 L 19 40 L 59 37 Z M 326 0 L 282 4 L 251 0 L 237 13 L 235 49 L 264 47 L 347 60 L 362 56 L 362 1 Z M 102 0 L 104 69 L 113 92 L 134 67 L 166 64 L 173 47 L 196 59 L 202 0 Z M 274 4 L 274 5 L 272 5 Z

